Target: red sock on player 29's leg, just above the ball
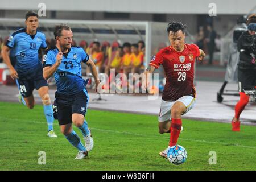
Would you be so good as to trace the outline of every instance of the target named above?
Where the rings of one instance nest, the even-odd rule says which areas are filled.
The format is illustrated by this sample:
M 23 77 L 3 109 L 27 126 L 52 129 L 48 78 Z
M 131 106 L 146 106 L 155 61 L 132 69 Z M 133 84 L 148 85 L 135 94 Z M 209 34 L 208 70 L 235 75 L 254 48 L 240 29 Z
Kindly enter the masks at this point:
M 180 135 L 181 125 L 182 125 L 181 119 L 172 118 L 171 129 L 170 129 L 171 137 L 170 137 L 169 146 L 174 146 L 177 144 L 177 139 L 179 138 L 179 135 Z

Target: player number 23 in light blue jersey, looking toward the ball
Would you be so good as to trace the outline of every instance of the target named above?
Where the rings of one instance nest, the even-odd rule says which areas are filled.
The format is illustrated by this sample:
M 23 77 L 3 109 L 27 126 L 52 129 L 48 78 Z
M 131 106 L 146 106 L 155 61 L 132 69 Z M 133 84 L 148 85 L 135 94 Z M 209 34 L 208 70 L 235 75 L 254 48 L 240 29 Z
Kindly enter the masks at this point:
M 85 121 L 89 96 L 82 79 L 81 62 L 87 64 L 96 80 L 96 92 L 100 81 L 96 66 L 81 47 L 71 46 L 73 33 L 66 24 L 55 26 L 56 48 L 49 49 L 44 55 L 43 76 L 54 76 L 57 91 L 54 105 L 57 107 L 57 119 L 61 133 L 79 152 L 75 159 L 84 159 L 93 148 L 93 138 Z M 85 140 L 82 144 L 72 129 L 72 123 L 80 129 Z

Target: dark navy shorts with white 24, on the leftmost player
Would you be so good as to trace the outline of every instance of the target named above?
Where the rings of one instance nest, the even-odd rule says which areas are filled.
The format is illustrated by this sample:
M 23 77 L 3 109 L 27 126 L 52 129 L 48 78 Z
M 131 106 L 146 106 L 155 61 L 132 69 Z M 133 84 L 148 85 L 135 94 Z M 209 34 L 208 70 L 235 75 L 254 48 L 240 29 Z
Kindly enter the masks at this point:
M 38 90 L 43 86 L 48 86 L 47 81 L 43 77 L 42 67 L 36 69 L 33 73 L 26 75 L 19 74 L 18 77 L 19 90 L 24 98 L 30 97 L 34 89 Z

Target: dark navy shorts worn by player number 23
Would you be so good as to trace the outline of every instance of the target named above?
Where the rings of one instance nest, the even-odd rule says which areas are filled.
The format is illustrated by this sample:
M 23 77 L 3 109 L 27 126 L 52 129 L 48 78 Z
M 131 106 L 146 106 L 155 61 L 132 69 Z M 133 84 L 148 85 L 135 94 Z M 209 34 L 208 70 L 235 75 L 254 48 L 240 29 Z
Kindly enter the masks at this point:
M 72 123 L 72 114 L 82 114 L 85 116 L 88 107 L 87 90 L 73 95 L 64 95 L 55 92 L 54 104 L 57 107 L 57 119 L 59 125 Z

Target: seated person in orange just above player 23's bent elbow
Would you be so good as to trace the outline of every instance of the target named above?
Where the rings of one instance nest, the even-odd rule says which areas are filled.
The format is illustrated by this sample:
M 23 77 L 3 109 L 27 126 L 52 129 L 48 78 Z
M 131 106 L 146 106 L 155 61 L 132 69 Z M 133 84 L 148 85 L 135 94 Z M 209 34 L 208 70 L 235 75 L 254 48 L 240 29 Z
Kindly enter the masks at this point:
M 98 68 L 98 72 L 102 73 L 103 59 L 104 55 L 100 49 L 101 44 L 98 41 L 93 42 L 92 46 L 92 60 L 96 67 Z

